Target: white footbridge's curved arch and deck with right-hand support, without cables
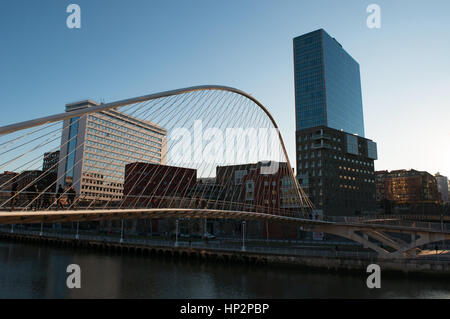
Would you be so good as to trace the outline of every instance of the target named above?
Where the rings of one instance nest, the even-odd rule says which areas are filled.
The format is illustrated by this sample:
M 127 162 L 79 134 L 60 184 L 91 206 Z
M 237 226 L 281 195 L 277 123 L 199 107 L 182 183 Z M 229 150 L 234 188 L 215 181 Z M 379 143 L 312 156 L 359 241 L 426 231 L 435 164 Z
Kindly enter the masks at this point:
M 20 130 L 29 129 L 45 124 L 51 124 L 58 121 L 63 121 L 77 116 L 92 114 L 101 111 L 107 111 L 116 109 L 122 106 L 146 102 L 159 98 L 165 98 L 169 96 L 181 95 L 195 91 L 205 90 L 218 90 L 227 91 L 244 96 L 255 103 L 270 119 L 274 128 L 277 129 L 278 139 L 281 144 L 283 154 L 285 155 L 286 162 L 290 171 L 290 175 L 294 180 L 294 185 L 299 199 L 304 204 L 304 199 L 309 207 L 312 208 L 312 203 L 305 198 L 304 192 L 298 184 L 295 178 L 292 166 L 286 151 L 286 147 L 283 141 L 283 137 L 279 130 L 279 127 L 268 109 L 256 98 L 250 94 L 227 86 L 219 85 L 201 85 L 188 88 L 176 89 L 171 91 L 165 91 L 160 93 L 153 93 L 143 95 L 135 98 L 124 99 L 116 102 L 101 104 L 85 109 L 75 110 L 71 112 L 64 112 L 52 116 L 42 117 L 30 121 L 20 122 L 12 125 L 0 127 L 0 136 L 14 133 Z M 296 223 L 302 225 L 304 231 L 312 232 L 325 232 L 328 234 L 338 235 L 344 238 L 351 239 L 359 242 L 364 246 L 376 251 L 381 257 L 385 258 L 401 258 L 415 256 L 416 247 L 426 245 L 428 243 L 450 240 L 449 231 L 436 231 L 432 229 L 421 229 L 420 227 L 402 227 L 391 226 L 380 223 L 371 223 L 370 220 L 364 221 L 364 219 L 337 223 L 329 221 L 317 221 L 311 219 L 303 219 L 298 217 L 269 215 L 255 212 L 240 212 L 240 211 L 220 211 L 220 210 L 199 210 L 199 209 L 148 209 L 148 210 L 106 210 L 106 211 L 72 211 L 72 212 L 22 212 L 22 213 L 1 213 L 0 212 L 0 225 L 4 224 L 22 224 L 22 223 L 53 223 L 53 222 L 65 222 L 65 221 L 89 221 L 89 220 L 102 220 L 102 219 L 126 219 L 126 218 L 158 218 L 158 217 L 189 217 L 189 218 L 237 218 L 237 219 L 255 219 L 255 220 L 272 220 L 286 223 Z M 390 217 L 391 218 L 391 217 Z M 405 218 L 409 219 L 409 218 Z M 414 219 L 414 218 L 411 218 Z M 375 219 L 377 220 L 377 219 Z M 442 217 L 441 217 L 442 221 Z M 389 233 L 407 233 L 412 235 L 410 242 L 404 242 L 399 238 L 389 236 Z M 369 237 L 383 243 L 385 246 L 390 247 L 393 251 L 387 251 L 384 248 L 374 244 L 369 240 Z

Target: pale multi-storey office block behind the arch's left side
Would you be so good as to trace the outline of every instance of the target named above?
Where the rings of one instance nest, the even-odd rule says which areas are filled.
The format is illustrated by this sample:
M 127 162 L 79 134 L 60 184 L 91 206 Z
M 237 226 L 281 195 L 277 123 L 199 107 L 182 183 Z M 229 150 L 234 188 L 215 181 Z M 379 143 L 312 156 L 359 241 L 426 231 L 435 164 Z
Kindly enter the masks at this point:
M 66 105 L 66 112 L 94 107 L 86 100 Z M 166 130 L 157 124 L 108 110 L 64 121 L 58 183 L 73 185 L 87 200 L 120 200 L 125 165 L 165 164 Z

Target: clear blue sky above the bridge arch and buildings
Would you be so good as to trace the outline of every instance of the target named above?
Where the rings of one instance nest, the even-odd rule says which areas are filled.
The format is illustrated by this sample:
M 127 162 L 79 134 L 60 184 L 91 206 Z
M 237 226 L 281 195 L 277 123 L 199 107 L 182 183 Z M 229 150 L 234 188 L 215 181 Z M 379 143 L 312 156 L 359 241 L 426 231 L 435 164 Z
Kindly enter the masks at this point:
M 80 5 L 82 27 L 66 27 Z M 381 6 L 381 29 L 366 7 Z M 292 38 L 324 28 L 361 66 L 376 169 L 450 175 L 450 1 L 2 0 L 0 125 L 198 84 L 243 89 L 294 152 Z

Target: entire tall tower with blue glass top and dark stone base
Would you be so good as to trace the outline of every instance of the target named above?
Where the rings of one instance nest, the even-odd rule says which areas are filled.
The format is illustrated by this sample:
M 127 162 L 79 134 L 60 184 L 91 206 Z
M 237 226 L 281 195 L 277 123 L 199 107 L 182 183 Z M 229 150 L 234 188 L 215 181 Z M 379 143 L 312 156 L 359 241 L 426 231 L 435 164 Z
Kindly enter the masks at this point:
M 324 215 L 374 212 L 359 64 L 323 29 L 293 40 L 297 179 Z

